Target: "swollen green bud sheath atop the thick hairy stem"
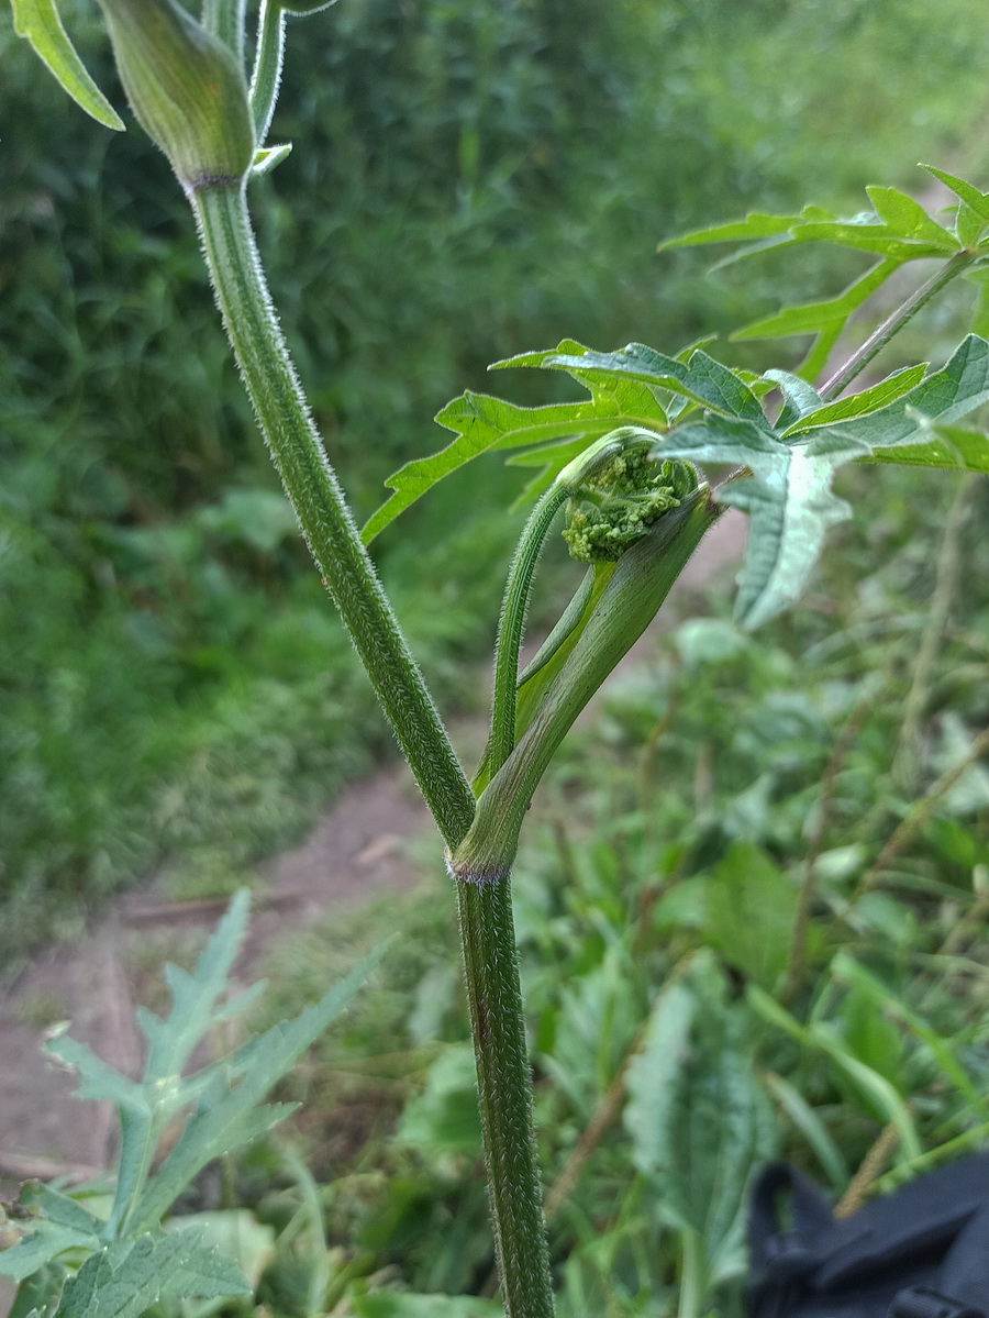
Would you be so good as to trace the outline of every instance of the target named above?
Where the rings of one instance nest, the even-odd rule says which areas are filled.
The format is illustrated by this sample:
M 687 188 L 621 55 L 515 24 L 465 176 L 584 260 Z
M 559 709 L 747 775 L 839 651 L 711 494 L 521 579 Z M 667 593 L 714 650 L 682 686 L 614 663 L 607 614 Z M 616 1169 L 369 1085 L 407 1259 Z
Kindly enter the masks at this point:
M 100 0 L 130 108 L 187 191 L 232 185 L 254 159 L 244 74 L 175 0 Z

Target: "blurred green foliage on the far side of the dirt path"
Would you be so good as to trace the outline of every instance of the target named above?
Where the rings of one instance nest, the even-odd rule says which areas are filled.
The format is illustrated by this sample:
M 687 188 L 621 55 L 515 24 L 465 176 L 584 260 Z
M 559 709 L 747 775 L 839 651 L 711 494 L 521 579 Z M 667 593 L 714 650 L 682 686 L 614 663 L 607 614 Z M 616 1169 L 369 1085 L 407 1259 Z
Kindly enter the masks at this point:
M 92 9 L 65 9 L 112 88 Z M 309 40 L 290 29 L 273 140 L 296 146 L 254 207 L 358 514 L 485 362 L 564 330 L 673 348 L 768 308 L 765 270 L 714 290 L 690 253 L 657 260 L 658 239 L 811 192 L 857 204 L 870 179 L 919 186 L 918 158 L 961 152 L 977 178 L 989 34 L 961 0 L 921 61 L 932 12 L 345 0 Z M 0 142 L 0 940 L 24 945 L 151 866 L 229 886 L 385 737 L 281 507 L 163 158 L 70 107 L 5 14 L 0 62 L 17 124 Z M 450 485 L 382 555 L 460 699 L 515 523 L 465 519 Z

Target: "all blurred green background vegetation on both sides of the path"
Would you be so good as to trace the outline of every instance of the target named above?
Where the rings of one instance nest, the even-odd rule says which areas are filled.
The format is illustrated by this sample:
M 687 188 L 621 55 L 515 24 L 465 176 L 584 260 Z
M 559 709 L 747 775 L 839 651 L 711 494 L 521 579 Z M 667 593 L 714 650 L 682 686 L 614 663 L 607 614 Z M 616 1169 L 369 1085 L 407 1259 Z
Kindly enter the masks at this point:
M 92 14 L 70 20 L 108 80 Z M 274 133 L 299 146 L 254 202 L 361 513 L 489 361 L 562 335 L 673 351 L 859 268 L 774 266 L 770 301 L 766 269 L 702 281 L 694 254 L 657 258 L 658 239 L 748 207 L 855 211 L 867 182 L 924 187 L 918 159 L 976 181 L 989 165 L 977 0 L 949 24 L 931 0 L 344 0 L 319 24 L 290 46 Z M 230 888 L 387 738 L 274 486 L 163 161 L 67 107 L 5 17 L 0 61 L 0 121 L 18 125 L 0 140 L 9 953 L 154 869 L 178 891 Z M 926 318 L 919 355 L 951 345 L 951 316 Z M 382 362 L 387 390 L 370 384 Z M 523 380 L 519 398 L 550 386 Z M 515 536 L 516 486 L 494 463 L 490 477 L 486 506 L 465 511 L 452 478 L 377 551 L 450 708 L 475 699 L 464 660 L 490 639 Z M 989 716 L 985 494 L 843 478 L 868 480 L 872 511 L 834 536 L 811 608 L 756 638 L 727 604 L 683 625 L 583 734 L 594 755 L 572 741 L 529 829 L 519 933 L 572 1318 L 655 1314 L 685 1277 L 698 1315 L 734 1314 L 741 1191 L 774 1151 L 845 1193 L 877 1140 L 869 1174 L 895 1162 L 895 1178 L 989 1124 L 982 770 L 885 850 Z M 400 1292 L 460 1297 L 490 1273 L 450 915 L 427 888 L 400 919 L 377 990 L 294 1081 L 320 1184 L 270 1141 L 190 1205 L 241 1206 L 242 1261 L 279 1318 L 415 1318 Z M 391 900 L 287 949 L 271 1012 L 394 924 Z M 666 1011 L 689 1060 L 676 1077 L 649 1046 Z M 649 1112 L 647 1091 L 664 1095 Z

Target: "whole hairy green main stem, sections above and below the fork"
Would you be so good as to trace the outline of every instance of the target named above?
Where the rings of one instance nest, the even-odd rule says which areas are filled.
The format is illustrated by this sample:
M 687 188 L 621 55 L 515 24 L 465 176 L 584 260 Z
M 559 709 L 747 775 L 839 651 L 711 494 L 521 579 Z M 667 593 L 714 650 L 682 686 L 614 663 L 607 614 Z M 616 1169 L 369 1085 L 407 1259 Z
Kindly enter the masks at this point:
M 323 449 L 275 320 L 242 186 L 190 196 L 216 299 L 306 540 L 448 845 L 474 816 L 449 743 Z M 508 1318 L 550 1318 L 508 879 L 457 883 L 495 1247 Z

